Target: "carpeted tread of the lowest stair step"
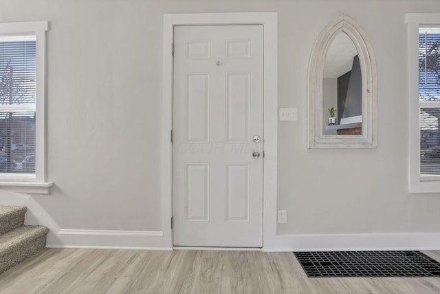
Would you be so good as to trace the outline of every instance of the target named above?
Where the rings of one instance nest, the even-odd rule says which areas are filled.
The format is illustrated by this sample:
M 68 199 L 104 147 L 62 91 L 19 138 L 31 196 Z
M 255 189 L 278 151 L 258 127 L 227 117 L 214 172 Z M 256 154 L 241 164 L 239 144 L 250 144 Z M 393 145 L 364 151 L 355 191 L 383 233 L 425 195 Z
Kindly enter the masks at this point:
M 0 234 L 0 257 L 17 249 L 19 246 L 29 244 L 48 232 L 49 229 L 43 226 L 23 226 L 8 233 Z

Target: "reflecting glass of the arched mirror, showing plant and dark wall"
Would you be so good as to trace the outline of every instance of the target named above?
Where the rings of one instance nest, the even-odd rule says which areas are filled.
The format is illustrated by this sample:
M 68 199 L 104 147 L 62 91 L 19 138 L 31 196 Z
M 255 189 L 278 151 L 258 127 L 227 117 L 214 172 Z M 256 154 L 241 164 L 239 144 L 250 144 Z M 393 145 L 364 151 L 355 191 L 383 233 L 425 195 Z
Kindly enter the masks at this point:
M 362 135 L 362 75 L 358 50 L 344 32 L 333 39 L 325 59 L 322 134 Z

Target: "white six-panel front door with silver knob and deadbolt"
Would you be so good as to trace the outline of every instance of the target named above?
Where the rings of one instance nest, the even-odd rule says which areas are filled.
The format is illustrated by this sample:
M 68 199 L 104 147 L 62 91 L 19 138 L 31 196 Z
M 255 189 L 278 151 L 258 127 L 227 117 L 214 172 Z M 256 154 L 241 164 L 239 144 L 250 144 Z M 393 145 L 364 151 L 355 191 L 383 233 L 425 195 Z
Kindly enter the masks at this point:
M 261 247 L 263 25 L 177 26 L 175 246 Z

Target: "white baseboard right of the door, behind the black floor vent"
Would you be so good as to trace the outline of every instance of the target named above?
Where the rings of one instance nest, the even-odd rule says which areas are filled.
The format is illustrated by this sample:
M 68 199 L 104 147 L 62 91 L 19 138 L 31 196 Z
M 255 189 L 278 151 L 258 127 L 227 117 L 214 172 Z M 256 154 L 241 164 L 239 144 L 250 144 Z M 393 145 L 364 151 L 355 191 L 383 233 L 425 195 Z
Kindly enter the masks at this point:
M 277 235 L 263 251 L 440 250 L 440 233 Z

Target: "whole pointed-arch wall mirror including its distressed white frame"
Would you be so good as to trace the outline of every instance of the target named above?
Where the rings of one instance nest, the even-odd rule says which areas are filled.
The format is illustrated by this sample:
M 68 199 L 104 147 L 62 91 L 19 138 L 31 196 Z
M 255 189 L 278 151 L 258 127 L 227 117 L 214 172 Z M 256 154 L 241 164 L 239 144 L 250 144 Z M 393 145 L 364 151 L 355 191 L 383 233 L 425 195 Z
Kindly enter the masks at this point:
M 341 15 L 322 30 L 309 64 L 309 147 L 372 148 L 376 74 L 360 26 Z

